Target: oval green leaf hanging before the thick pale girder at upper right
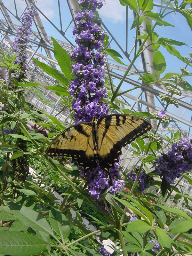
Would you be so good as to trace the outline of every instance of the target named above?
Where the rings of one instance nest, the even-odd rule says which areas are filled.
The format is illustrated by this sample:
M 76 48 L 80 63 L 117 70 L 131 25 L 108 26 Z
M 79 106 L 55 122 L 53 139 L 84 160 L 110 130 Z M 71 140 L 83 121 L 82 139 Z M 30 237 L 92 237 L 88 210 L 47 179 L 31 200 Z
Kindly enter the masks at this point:
M 153 67 L 155 69 L 157 77 L 159 77 L 165 71 L 166 62 L 163 54 L 160 51 L 156 51 L 153 54 Z

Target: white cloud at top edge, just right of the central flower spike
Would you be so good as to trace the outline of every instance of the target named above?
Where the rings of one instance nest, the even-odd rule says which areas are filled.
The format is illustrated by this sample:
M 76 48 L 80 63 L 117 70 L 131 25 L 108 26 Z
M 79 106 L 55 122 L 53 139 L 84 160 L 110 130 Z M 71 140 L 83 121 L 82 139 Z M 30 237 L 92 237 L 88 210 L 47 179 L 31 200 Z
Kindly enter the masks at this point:
M 118 0 L 105 0 L 103 7 L 98 12 L 100 16 L 110 19 L 113 23 L 126 20 L 126 7 L 121 5 Z

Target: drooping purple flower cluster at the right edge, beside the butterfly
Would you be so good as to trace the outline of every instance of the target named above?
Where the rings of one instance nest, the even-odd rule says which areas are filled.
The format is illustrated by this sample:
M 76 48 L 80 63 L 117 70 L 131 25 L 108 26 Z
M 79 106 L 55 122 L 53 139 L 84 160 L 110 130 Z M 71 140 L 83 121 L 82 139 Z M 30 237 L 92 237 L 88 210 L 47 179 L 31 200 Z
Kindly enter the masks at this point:
M 168 184 L 173 184 L 181 173 L 192 170 L 192 144 L 188 137 L 172 144 L 172 150 L 167 154 L 162 154 L 156 160 L 155 171 L 160 178 L 167 180 Z

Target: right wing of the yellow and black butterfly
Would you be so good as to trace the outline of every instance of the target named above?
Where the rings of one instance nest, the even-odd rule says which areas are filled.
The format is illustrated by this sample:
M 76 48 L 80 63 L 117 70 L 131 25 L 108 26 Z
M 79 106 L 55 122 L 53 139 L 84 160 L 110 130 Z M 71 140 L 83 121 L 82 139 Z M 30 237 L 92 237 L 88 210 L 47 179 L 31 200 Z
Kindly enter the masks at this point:
M 98 120 L 100 166 L 109 170 L 121 155 L 121 148 L 151 129 L 142 117 L 114 114 Z

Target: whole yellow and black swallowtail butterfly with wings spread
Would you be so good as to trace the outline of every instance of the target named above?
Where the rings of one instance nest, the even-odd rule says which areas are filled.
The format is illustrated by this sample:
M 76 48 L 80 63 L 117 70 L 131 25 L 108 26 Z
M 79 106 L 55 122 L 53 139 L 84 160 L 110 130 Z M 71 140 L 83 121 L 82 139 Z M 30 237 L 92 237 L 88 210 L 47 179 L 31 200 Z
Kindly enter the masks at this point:
M 97 167 L 103 171 L 119 161 L 121 148 L 151 129 L 142 117 L 124 114 L 93 117 L 90 122 L 70 126 L 52 140 L 48 156 L 69 156 L 84 167 L 84 172 Z

